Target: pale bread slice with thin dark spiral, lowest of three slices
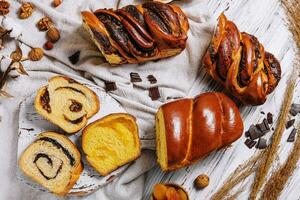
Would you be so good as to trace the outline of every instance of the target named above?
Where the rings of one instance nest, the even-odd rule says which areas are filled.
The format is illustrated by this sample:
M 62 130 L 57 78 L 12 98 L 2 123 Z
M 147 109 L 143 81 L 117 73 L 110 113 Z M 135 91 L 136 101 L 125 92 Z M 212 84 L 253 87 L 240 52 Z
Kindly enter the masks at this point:
M 38 135 L 22 153 L 19 166 L 25 175 L 59 196 L 68 194 L 83 170 L 76 146 L 54 132 Z

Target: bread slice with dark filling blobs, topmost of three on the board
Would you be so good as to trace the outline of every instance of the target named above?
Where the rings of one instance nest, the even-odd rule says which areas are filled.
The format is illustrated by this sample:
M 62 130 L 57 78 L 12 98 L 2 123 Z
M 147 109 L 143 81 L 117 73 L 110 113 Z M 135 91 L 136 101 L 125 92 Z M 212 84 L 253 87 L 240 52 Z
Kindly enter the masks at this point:
M 75 80 L 55 76 L 39 89 L 34 106 L 36 111 L 67 133 L 76 133 L 99 111 L 97 95 Z

